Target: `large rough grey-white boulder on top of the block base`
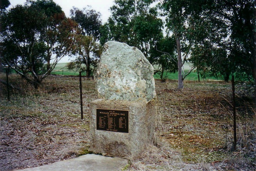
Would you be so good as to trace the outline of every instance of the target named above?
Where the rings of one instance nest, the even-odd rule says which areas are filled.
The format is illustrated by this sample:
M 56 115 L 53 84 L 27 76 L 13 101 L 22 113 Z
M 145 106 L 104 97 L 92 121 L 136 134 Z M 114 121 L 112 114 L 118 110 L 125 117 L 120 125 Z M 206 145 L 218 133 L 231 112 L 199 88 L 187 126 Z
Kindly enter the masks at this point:
M 94 72 L 100 99 L 149 102 L 156 95 L 154 68 L 135 47 L 108 41 Z

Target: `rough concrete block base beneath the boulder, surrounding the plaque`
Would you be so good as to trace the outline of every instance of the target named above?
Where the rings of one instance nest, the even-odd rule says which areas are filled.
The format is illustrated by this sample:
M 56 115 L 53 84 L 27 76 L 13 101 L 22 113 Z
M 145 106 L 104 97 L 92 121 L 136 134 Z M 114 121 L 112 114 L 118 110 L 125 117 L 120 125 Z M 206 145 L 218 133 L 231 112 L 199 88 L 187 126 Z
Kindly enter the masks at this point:
M 96 130 L 96 108 L 128 110 L 129 133 Z M 136 157 L 147 144 L 154 142 L 156 134 L 155 100 L 122 101 L 94 100 L 91 103 L 90 148 L 94 153 L 113 157 Z

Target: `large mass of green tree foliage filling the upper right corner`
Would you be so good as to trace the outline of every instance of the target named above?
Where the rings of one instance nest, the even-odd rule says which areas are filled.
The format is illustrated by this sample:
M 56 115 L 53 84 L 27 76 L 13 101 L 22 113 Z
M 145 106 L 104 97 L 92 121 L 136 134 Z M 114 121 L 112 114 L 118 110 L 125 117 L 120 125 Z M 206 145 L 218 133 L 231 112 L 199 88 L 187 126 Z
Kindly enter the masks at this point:
M 256 82 L 255 0 L 161 2 L 167 31 L 175 36 L 178 68 L 189 61 L 203 78 L 228 81 L 234 73 L 246 73 L 246 80 L 254 76 Z

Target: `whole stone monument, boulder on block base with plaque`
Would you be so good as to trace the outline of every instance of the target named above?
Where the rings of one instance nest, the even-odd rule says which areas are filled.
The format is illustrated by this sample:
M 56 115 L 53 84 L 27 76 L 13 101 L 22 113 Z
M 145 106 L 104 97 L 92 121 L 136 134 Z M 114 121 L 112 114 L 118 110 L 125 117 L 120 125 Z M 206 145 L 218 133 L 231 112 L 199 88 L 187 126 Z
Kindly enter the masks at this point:
M 153 66 L 138 48 L 116 41 L 105 43 L 94 73 L 99 99 L 90 105 L 92 152 L 136 157 L 154 142 L 153 73 Z

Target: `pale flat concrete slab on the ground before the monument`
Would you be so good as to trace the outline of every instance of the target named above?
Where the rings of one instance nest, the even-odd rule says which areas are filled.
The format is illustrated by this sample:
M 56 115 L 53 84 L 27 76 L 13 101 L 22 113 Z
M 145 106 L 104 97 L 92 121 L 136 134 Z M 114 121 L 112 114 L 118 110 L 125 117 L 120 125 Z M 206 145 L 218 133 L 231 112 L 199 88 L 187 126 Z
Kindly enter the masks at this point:
M 114 171 L 121 170 L 128 161 L 117 157 L 86 154 L 75 159 L 15 171 Z

